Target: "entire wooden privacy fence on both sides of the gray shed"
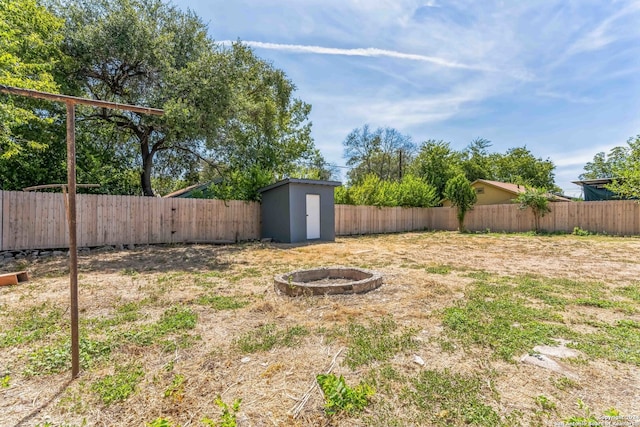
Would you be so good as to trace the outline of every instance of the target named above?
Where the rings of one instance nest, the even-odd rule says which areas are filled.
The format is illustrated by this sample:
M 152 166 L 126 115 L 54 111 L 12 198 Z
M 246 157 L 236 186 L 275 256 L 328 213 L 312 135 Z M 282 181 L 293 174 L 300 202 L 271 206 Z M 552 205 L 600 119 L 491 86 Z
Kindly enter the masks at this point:
M 78 195 L 78 245 L 235 242 L 260 238 L 256 202 Z M 0 191 L 0 250 L 68 247 L 64 196 Z M 526 232 L 530 210 L 516 204 L 476 206 L 467 214 L 471 231 Z M 455 208 L 378 208 L 336 205 L 335 232 L 397 233 L 456 230 Z M 570 233 L 640 235 L 636 201 L 552 203 L 540 228 Z

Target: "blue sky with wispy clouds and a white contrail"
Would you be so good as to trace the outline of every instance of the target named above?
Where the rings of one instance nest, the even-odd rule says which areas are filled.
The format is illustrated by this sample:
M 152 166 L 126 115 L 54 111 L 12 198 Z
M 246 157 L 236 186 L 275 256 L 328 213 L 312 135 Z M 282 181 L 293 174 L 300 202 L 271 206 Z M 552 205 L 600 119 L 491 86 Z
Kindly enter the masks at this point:
M 640 134 L 640 0 L 176 0 L 240 39 L 313 107 L 344 165 L 365 123 L 420 143 L 526 145 L 569 195 L 586 162 Z

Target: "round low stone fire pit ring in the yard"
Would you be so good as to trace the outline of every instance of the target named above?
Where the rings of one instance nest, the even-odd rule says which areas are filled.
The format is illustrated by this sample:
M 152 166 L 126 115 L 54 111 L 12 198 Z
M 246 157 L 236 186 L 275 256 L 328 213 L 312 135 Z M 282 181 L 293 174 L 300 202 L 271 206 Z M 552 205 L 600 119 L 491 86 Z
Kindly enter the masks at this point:
M 382 275 L 354 267 L 322 267 L 278 274 L 274 278 L 278 293 L 299 295 L 361 294 L 382 285 Z

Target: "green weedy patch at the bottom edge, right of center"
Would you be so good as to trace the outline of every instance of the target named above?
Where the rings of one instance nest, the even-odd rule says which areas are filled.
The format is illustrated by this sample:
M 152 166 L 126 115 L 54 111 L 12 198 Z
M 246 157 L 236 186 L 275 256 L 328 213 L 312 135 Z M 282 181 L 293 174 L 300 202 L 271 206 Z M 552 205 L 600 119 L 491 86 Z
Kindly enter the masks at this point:
M 477 377 L 427 370 L 410 383 L 402 399 L 420 410 L 421 425 L 501 425 L 497 412 L 482 402 Z

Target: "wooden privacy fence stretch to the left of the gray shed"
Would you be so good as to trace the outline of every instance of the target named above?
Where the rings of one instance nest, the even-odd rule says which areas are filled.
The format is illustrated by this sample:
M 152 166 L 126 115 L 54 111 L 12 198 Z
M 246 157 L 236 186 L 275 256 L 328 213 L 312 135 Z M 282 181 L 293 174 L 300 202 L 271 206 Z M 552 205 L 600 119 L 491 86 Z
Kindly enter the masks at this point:
M 64 196 L 0 191 L 0 250 L 66 248 Z M 260 237 L 256 202 L 77 196 L 78 246 L 243 241 Z

